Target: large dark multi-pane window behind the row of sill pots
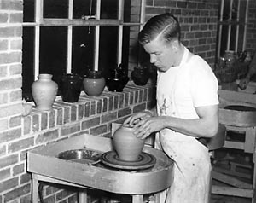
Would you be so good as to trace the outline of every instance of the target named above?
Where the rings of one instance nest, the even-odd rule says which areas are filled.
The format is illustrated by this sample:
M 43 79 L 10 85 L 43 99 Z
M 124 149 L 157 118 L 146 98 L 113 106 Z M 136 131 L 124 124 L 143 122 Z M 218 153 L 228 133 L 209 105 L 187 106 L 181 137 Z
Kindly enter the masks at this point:
M 22 96 L 31 101 L 39 73 L 111 68 L 137 61 L 131 47 L 143 25 L 145 0 L 24 0 Z M 136 33 L 136 34 L 134 34 Z

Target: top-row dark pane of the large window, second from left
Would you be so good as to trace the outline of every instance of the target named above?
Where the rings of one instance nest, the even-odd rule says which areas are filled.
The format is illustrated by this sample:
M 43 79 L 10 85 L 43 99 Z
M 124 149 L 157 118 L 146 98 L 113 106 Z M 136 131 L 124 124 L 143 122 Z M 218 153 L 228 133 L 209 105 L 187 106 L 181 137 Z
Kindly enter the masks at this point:
M 68 0 L 44 0 L 44 18 L 67 18 Z

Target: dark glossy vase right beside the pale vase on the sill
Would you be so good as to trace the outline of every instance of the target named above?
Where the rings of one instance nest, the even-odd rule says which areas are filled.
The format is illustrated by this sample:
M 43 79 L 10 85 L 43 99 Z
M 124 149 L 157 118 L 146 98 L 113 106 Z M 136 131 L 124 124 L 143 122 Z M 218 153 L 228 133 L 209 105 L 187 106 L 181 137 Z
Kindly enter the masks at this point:
M 83 78 L 79 74 L 64 74 L 59 89 L 64 102 L 78 102 L 83 87 Z

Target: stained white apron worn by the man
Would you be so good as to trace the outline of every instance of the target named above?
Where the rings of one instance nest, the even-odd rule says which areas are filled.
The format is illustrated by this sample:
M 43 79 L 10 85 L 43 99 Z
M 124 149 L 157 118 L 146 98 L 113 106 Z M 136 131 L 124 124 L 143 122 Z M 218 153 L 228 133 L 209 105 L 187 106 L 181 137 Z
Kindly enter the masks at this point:
M 158 73 L 158 115 L 183 119 L 198 118 L 192 103 L 191 107 L 184 105 L 183 111 L 180 110 L 181 107 L 177 108 L 177 103 L 183 105 L 183 100 L 187 100 L 189 96 L 189 84 L 186 85 L 183 81 L 189 78 L 183 70 L 188 55 L 189 51 L 185 49 L 179 67 L 171 67 L 167 73 Z M 189 99 L 186 102 L 184 103 L 189 104 Z M 164 129 L 157 134 L 155 148 L 162 149 L 175 162 L 173 174 L 170 174 L 174 178 L 172 186 L 162 192 L 161 203 L 207 203 L 211 172 L 208 149 L 195 137 L 185 136 L 170 129 Z

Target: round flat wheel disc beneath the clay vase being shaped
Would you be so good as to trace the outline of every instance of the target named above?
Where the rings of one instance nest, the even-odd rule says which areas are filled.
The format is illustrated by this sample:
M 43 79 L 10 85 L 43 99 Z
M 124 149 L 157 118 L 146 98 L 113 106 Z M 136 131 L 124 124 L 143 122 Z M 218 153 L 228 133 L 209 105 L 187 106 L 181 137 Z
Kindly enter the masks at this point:
M 102 163 L 117 169 L 139 170 L 154 166 L 156 159 L 154 155 L 142 152 L 137 161 L 124 161 L 119 159 L 115 151 L 109 151 L 102 154 Z

